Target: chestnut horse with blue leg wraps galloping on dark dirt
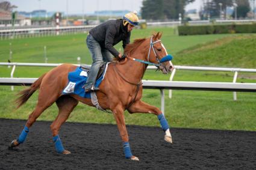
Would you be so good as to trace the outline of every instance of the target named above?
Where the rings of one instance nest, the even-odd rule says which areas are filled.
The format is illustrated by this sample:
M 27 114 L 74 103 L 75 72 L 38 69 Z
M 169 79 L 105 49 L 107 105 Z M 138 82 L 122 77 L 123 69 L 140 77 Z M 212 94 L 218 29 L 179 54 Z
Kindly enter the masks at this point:
M 142 77 L 148 64 L 157 65 L 164 74 L 169 73 L 173 69 L 170 59 L 160 63 L 160 60 L 163 59 L 164 56 L 167 56 L 166 49 L 161 43 L 160 38 L 161 34 L 158 32 L 152 35 L 151 38 L 137 39 L 134 43 L 128 44 L 124 52 L 127 57 L 108 64 L 105 78 L 101 82 L 101 85 L 99 85 L 100 90 L 96 92 L 101 108 L 110 109 L 113 113 L 120 137 L 123 141 L 123 150 L 127 159 L 139 160 L 131 153 L 123 113 L 125 110 L 130 112 L 130 114 L 150 113 L 157 115 L 161 128 L 165 132 L 164 140 L 172 143 L 169 125 L 160 109 L 148 105 L 141 100 Z M 29 128 L 36 119 L 45 109 L 56 102 L 58 106 L 58 116 L 51 124 L 55 148 L 58 153 L 70 153 L 70 151 L 64 150 L 60 136 L 58 135 L 61 125 L 67 120 L 75 106 L 78 105 L 78 102 L 94 106 L 90 99 L 80 97 L 76 94 L 62 94 L 63 89 L 69 82 L 67 78 L 68 73 L 74 71 L 76 67 L 77 66 L 72 64 L 62 64 L 48 71 L 48 73 L 43 74 L 30 88 L 20 91 L 20 97 L 16 100 L 17 108 L 27 102 L 36 90 L 39 90 L 39 97 L 36 108 L 28 117 L 25 128 L 20 133 L 19 138 L 11 142 L 10 148 L 22 144 L 27 137 Z

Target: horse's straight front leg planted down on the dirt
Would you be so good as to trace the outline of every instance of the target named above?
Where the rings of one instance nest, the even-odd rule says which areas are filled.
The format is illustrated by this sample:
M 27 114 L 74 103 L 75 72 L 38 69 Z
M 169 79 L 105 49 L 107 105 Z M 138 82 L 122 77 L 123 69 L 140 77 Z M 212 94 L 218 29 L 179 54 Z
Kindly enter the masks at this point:
M 119 106 L 115 106 L 111 110 L 113 112 L 114 118 L 116 119 L 116 124 L 123 141 L 123 151 L 125 153 L 125 158 L 131 159 L 131 160 L 139 160 L 139 158 L 137 158 L 136 156 L 133 156 L 133 154 L 131 153 L 128 133 L 125 126 L 125 116 L 123 115 L 123 111 L 124 111 L 123 107 L 119 105 Z

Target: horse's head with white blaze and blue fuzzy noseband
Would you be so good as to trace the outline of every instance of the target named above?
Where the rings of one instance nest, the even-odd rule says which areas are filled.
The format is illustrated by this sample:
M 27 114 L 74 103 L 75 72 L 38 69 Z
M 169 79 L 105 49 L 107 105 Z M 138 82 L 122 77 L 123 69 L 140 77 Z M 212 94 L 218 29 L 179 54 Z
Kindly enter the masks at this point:
M 148 51 L 148 61 L 158 64 L 158 68 L 164 73 L 167 74 L 173 70 L 173 64 L 170 61 L 172 56 L 168 55 L 166 48 L 163 43 L 161 43 L 162 34 L 157 32 L 157 34 L 152 35 L 149 38 L 149 51 Z

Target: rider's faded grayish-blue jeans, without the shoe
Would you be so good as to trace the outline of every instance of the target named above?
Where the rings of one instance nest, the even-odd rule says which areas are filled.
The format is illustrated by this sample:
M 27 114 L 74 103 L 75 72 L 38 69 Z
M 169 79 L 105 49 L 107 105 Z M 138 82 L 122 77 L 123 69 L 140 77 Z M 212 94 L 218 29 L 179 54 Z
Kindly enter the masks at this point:
M 112 61 L 112 56 L 107 49 L 101 47 L 101 45 L 95 40 L 95 38 L 92 37 L 92 35 L 87 36 L 86 44 L 92 55 L 93 60 L 92 67 L 90 68 L 90 71 L 88 73 L 86 84 L 84 85 L 84 88 L 87 90 L 92 88 L 92 86 L 94 85 L 97 74 L 99 72 L 99 68 L 101 67 L 103 62 Z

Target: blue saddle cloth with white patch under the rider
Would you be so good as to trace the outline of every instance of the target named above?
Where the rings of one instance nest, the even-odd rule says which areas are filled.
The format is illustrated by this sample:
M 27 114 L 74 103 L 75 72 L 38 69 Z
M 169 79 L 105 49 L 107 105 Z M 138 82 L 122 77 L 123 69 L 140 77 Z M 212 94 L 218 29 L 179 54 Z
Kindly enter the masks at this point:
M 107 66 L 104 70 L 104 73 L 96 80 L 95 87 L 99 87 L 102 80 L 104 79 L 105 72 L 107 71 Z M 91 98 L 90 93 L 86 93 L 84 91 L 84 84 L 87 80 L 87 72 L 82 70 L 81 67 L 77 67 L 75 71 L 69 72 L 68 75 L 69 83 L 67 84 L 66 88 L 62 91 L 62 94 L 77 94 L 84 98 Z

